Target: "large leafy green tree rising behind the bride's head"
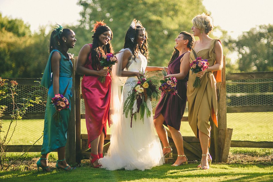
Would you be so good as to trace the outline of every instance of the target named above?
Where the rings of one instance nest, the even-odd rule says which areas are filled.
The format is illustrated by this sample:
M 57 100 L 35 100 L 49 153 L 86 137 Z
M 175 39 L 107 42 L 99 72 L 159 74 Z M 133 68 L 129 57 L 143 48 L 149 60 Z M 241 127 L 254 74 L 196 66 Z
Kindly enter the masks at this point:
M 104 20 L 113 31 L 112 44 L 116 52 L 123 48 L 124 37 L 132 20 L 140 20 L 149 34 L 150 64 L 158 66 L 166 66 L 177 35 L 181 31 L 190 32 L 191 19 L 206 12 L 201 0 L 80 0 L 78 4 L 83 7 L 80 27 L 90 31 L 95 21 Z M 91 41 L 86 40 L 86 43 Z

